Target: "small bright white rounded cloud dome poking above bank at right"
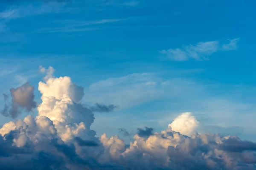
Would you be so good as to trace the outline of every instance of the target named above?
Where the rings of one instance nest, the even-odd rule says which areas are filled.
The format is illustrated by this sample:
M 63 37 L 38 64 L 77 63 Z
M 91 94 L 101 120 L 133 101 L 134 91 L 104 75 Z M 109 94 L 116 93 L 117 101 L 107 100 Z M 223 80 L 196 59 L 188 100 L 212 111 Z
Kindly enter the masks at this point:
M 180 132 L 183 135 L 190 136 L 197 129 L 199 122 L 192 116 L 192 113 L 182 113 L 180 116 L 174 119 L 174 121 L 169 124 L 172 130 Z

